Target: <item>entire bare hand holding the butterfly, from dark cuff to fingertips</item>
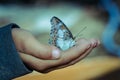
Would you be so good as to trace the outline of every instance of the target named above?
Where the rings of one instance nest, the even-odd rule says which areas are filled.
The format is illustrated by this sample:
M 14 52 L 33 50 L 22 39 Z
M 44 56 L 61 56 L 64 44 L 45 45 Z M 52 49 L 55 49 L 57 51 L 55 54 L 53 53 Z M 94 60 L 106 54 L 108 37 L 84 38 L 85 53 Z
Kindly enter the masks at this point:
M 49 72 L 73 65 L 100 44 L 96 39 L 78 39 L 74 47 L 61 51 L 55 46 L 40 43 L 26 30 L 14 28 L 12 36 L 23 62 L 39 72 Z

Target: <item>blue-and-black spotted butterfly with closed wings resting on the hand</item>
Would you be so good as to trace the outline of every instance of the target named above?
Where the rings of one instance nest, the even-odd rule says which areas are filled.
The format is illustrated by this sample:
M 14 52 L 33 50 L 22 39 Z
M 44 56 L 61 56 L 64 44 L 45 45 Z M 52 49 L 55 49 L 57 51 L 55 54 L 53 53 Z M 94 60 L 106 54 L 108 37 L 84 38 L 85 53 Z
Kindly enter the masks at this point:
M 49 39 L 50 45 L 54 45 L 63 51 L 75 45 L 75 37 L 59 18 L 52 17 L 50 23 L 52 25 Z

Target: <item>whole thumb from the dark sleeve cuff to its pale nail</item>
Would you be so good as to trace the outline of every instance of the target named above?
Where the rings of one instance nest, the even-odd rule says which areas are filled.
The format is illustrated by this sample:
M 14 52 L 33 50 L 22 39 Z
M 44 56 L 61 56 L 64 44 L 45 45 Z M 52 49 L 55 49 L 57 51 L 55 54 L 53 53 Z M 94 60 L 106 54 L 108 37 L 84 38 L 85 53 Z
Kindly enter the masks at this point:
M 58 59 L 60 51 L 55 46 L 48 46 L 39 41 L 28 31 L 14 28 L 12 36 L 19 52 L 33 55 L 42 59 Z

